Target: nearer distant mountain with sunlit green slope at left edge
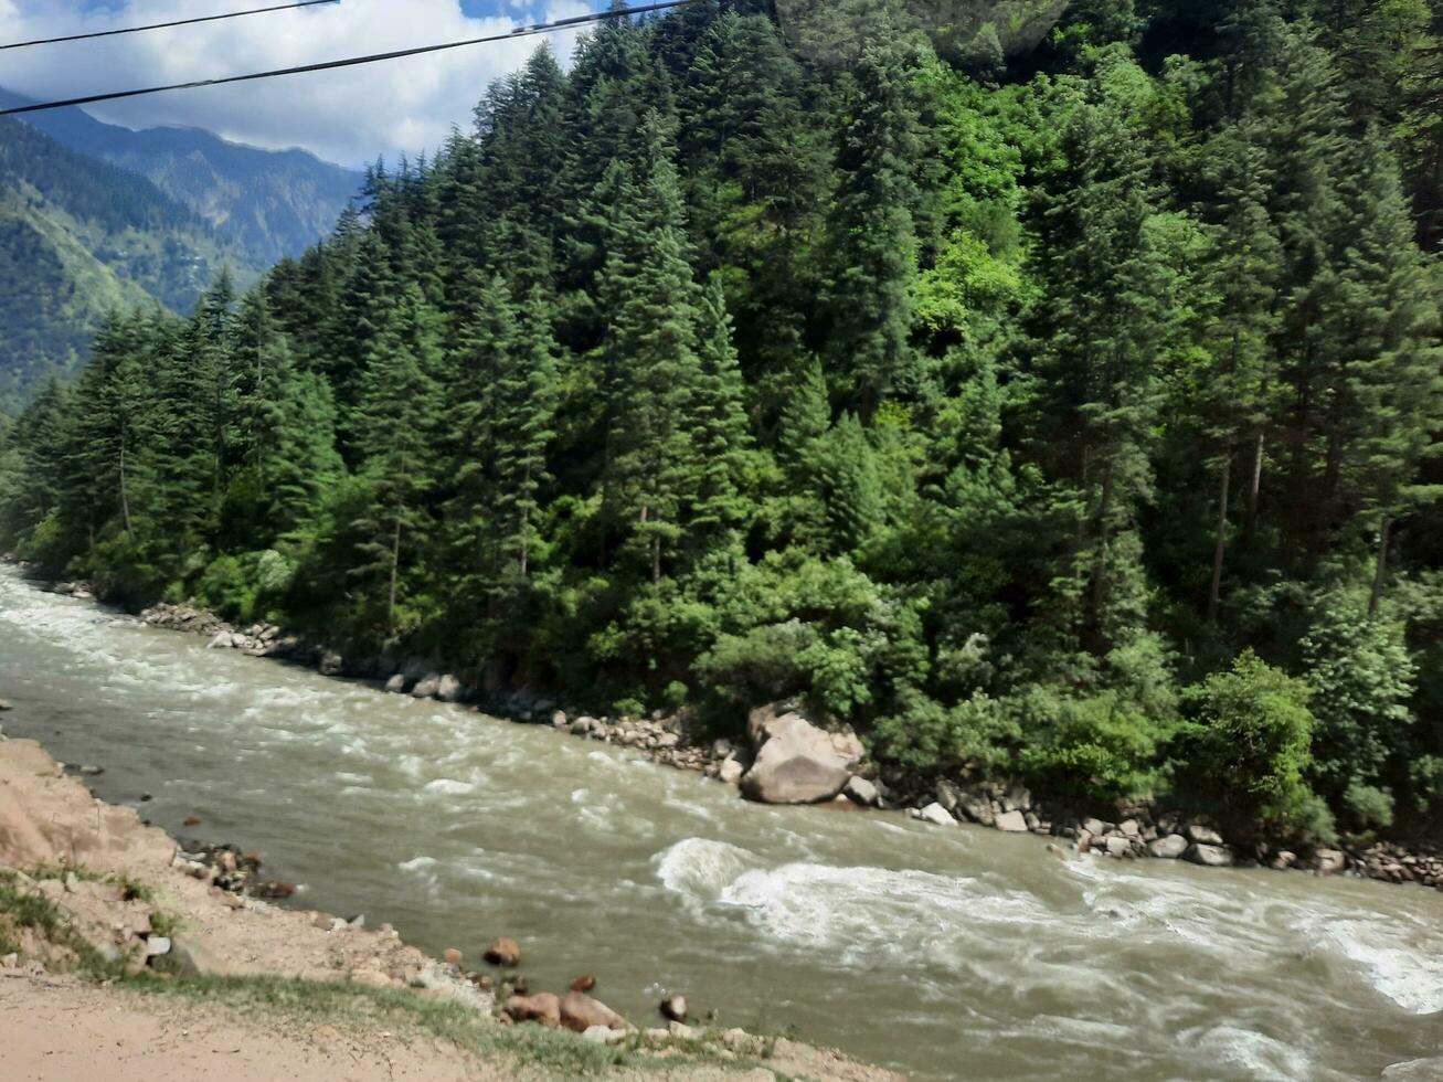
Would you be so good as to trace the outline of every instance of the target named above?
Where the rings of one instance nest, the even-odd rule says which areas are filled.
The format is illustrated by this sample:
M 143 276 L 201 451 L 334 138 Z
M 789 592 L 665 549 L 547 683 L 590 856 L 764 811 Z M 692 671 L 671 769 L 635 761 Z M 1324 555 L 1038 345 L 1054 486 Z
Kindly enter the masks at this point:
M 74 371 L 105 312 L 188 312 L 227 265 L 264 268 L 146 177 L 0 118 L 0 407 Z

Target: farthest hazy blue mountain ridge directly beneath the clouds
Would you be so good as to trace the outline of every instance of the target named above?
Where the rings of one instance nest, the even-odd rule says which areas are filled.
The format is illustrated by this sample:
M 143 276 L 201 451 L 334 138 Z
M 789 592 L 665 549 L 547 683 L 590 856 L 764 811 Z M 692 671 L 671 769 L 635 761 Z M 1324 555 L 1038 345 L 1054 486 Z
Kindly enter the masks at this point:
M 26 101 L 0 89 L 0 107 Z M 201 128 L 133 131 L 78 108 L 32 113 L 25 123 L 71 150 L 147 177 L 261 265 L 299 255 L 328 235 L 361 185 L 358 172 L 304 150 L 261 150 Z

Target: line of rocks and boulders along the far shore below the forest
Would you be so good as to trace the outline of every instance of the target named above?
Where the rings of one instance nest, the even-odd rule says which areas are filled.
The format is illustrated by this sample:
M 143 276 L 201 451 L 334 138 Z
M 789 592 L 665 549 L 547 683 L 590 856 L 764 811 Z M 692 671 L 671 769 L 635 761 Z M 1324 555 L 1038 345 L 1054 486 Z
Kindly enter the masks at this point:
M 35 568 L 25 568 L 29 574 Z M 87 583 L 40 583 L 65 596 L 87 599 Z M 1385 883 L 1416 883 L 1443 890 L 1443 853 L 1394 843 L 1329 845 L 1296 837 L 1268 837 L 1260 824 L 1224 831 L 1215 818 L 1153 802 L 1079 805 L 1035 795 L 1016 779 L 975 778 L 960 772 L 908 770 L 869 760 L 846 724 L 810 714 L 794 701 L 750 711 L 746 740 L 714 739 L 687 710 L 651 717 L 593 716 L 527 688 L 488 691 L 426 659 L 345 656 L 336 649 L 287 633 L 273 623 L 237 628 L 193 603 L 156 604 L 140 619 L 154 628 L 208 639 L 209 649 L 235 649 L 313 667 L 328 677 L 374 681 L 391 694 L 469 705 L 522 724 L 618 744 L 652 760 L 736 785 L 747 799 L 768 804 L 840 805 L 905 811 L 937 825 L 975 824 L 1009 834 L 1035 834 L 1068 843 L 1081 854 L 1117 860 L 1185 860 L 1203 867 L 1267 867 L 1319 876 L 1354 874 Z M 1056 844 L 1056 841 L 1053 844 Z

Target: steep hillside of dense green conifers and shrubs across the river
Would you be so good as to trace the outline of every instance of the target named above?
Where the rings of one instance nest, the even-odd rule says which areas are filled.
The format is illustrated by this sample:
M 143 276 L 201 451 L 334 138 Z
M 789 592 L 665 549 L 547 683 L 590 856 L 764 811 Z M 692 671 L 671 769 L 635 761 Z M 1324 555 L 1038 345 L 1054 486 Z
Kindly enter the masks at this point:
M 258 289 L 111 320 L 0 542 L 489 687 L 1427 825 L 1443 6 L 1085 0 L 1012 59 L 935 7 L 538 52 Z

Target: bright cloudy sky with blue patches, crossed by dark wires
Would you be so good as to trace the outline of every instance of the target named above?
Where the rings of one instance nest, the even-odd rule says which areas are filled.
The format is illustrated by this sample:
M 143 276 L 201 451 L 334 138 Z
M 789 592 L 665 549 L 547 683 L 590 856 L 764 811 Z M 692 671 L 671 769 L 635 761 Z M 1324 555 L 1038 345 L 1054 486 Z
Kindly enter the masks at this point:
M 342 0 L 333 7 L 258 14 L 199 26 L 102 38 L 4 53 L 0 85 L 33 98 L 268 71 L 418 45 L 506 33 L 518 22 L 596 10 L 583 0 L 538 9 L 508 0 L 514 14 L 468 17 L 459 0 Z M 193 0 L 121 0 L 82 13 L 76 0 L 0 0 L 0 33 L 27 40 L 198 14 Z M 206 12 L 225 10 L 225 6 Z M 377 154 L 439 147 L 492 79 L 550 40 L 566 62 L 577 32 L 518 38 L 341 71 L 172 91 L 89 107 L 128 127 L 182 124 L 264 147 L 302 146 L 343 164 Z

